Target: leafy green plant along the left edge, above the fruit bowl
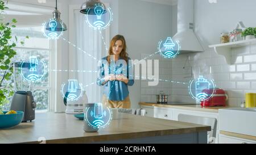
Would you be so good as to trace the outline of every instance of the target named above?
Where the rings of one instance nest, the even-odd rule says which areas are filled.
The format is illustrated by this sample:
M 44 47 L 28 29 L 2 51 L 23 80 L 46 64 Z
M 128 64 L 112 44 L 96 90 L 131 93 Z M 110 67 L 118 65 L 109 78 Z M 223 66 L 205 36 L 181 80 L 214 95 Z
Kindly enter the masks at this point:
M 5 9 L 9 9 L 5 5 L 4 1 L 0 1 L 0 17 Z M 14 47 L 18 43 L 18 39 L 16 36 L 13 39 L 11 30 L 16 27 L 16 22 L 16 19 L 13 19 L 11 22 L 5 23 L 4 20 L 0 19 L 0 110 L 3 104 L 8 103 L 8 99 L 14 94 L 12 86 L 13 65 L 11 64 L 11 59 L 16 55 Z M 20 44 L 24 44 L 24 41 L 20 41 Z

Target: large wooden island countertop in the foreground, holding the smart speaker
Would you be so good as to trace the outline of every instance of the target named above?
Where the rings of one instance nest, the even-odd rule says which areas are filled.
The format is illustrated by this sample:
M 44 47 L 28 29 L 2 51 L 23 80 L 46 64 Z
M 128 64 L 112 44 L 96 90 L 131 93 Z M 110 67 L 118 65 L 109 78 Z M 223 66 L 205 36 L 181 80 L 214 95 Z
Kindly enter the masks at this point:
M 166 136 L 210 131 L 210 127 L 158 118 L 119 113 L 108 127 L 98 132 L 84 132 L 84 122 L 68 114 L 36 114 L 32 123 L 20 123 L 9 129 L 0 129 L 0 143 L 92 143 L 150 136 Z

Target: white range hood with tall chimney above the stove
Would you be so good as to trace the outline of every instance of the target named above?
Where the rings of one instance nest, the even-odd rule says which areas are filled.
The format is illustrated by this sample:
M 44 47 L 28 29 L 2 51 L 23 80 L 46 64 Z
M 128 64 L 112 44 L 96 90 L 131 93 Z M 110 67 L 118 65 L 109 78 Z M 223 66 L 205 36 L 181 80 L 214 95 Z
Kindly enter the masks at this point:
M 178 0 L 177 33 L 172 39 L 180 41 L 180 53 L 204 51 L 194 31 L 194 0 Z

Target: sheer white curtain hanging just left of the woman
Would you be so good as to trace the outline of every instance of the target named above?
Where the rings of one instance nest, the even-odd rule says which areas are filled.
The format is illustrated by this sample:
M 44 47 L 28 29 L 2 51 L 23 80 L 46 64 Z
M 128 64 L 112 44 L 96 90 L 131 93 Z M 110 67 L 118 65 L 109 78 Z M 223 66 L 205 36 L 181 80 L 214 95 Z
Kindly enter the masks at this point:
M 98 73 L 97 71 L 97 62 L 103 56 L 106 56 L 106 48 L 101 39 L 101 33 L 98 30 L 93 30 L 89 27 L 85 21 L 85 15 L 81 14 L 79 10 L 74 10 L 74 36 L 75 36 L 75 45 L 76 48 L 73 48 L 73 58 L 75 59 L 72 66 L 75 66 L 73 70 L 80 71 L 93 71 L 90 72 L 75 72 L 75 78 L 82 83 L 84 90 L 86 90 L 86 95 L 88 96 L 88 102 L 101 102 L 101 89 L 102 87 L 96 84 L 96 79 Z M 104 31 L 102 31 L 104 34 Z M 102 35 L 103 35 L 102 34 Z M 105 36 L 103 36 L 105 38 Z M 86 55 L 85 51 L 91 56 Z M 93 57 L 97 58 L 95 60 Z M 69 68 L 70 70 L 71 68 Z M 74 75 L 74 74 L 73 74 Z M 71 78 L 71 77 L 69 77 Z M 92 84 L 94 82 L 94 84 Z M 89 85 L 89 86 L 86 86 Z

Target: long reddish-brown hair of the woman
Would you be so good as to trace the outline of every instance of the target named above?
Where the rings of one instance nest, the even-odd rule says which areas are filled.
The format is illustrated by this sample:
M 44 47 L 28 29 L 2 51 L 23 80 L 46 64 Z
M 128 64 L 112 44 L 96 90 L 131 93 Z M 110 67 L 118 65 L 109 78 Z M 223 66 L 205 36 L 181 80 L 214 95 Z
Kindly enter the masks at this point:
M 116 35 L 116 36 L 114 36 L 114 37 L 112 38 L 112 40 L 111 40 L 111 42 L 110 42 L 110 46 L 109 46 L 109 53 L 108 53 L 107 60 L 108 60 L 108 62 L 109 62 L 109 64 L 110 64 L 110 56 L 111 56 L 111 55 L 114 55 L 114 53 L 113 53 L 113 46 L 114 46 L 114 44 L 115 44 L 115 42 L 116 42 L 117 40 L 121 40 L 122 43 L 123 43 L 123 49 L 122 49 L 122 51 L 121 51 L 119 57 L 123 58 L 123 60 L 125 60 L 126 63 L 128 63 L 128 54 L 127 54 L 127 52 L 126 52 L 126 50 L 127 50 L 126 41 L 125 41 L 125 37 L 123 37 L 122 35 Z

